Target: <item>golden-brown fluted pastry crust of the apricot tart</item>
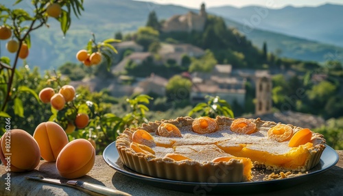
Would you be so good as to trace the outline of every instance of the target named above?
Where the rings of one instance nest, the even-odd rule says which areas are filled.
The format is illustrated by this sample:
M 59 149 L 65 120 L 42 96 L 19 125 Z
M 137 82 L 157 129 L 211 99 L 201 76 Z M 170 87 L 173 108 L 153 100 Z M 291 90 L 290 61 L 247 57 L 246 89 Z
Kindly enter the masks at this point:
M 244 164 L 243 160 L 239 158 L 232 158 L 229 161 L 212 162 L 209 160 L 197 161 L 197 160 L 182 160 L 175 161 L 168 157 L 156 156 L 154 154 L 143 154 L 137 153 L 132 148 L 130 144 L 132 143 L 132 134 L 137 130 L 145 130 L 150 132 L 154 137 L 158 138 L 158 141 L 163 140 L 161 136 L 158 136 L 158 126 L 162 123 L 171 123 L 176 125 L 180 129 L 181 134 L 185 132 L 190 132 L 191 125 L 195 119 L 191 117 L 179 117 L 177 119 L 161 120 L 155 122 L 149 122 L 143 124 L 141 127 L 134 127 L 131 129 L 126 129 L 117 138 L 116 147 L 119 152 L 121 162 L 129 167 L 130 169 L 143 173 L 145 175 L 150 175 L 152 177 L 165 178 L 169 180 L 180 180 L 187 182 L 246 182 L 251 180 L 252 176 L 250 172 L 251 167 Z M 230 119 L 228 117 L 217 117 L 215 121 L 217 122 L 218 132 L 220 130 L 228 130 L 231 123 L 235 119 Z M 261 119 L 248 119 L 252 123 L 256 124 L 258 134 L 259 130 L 268 130 L 270 127 L 274 127 L 277 123 L 271 121 L 261 121 Z M 302 129 L 301 127 L 296 127 L 294 125 L 289 125 L 292 127 L 294 132 Z M 246 135 L 246 143 L 249 142 L 250 135 Z M 182 143 L 182 138 L 173 140 L 174 138 L 167 138 L 166 142 L 160 144 L 160 146 L 165 145 L 165 147 L 180 147 L 182 145 L 195 145 L 195 144 L 185 144 Z M 227 141 L 230 143 L 229 138 Z M 156 141 L 156 143 L 158 143 Z M 189 140 L 188 140 L 189 141 Z M 219 142 L 225 142 L 226 140 L 202 140 L 196 141 L 196 145 L 217 145 Z M 241 142 L 241 141 L 239 141 Z M 272 165 L 264 165 L 259 161 L 255 161 L 255 167 L 265 167 L 266 169 L 276 170 L 276 171 L 308 171 L 318 164 L 320 161 L 320 156 L 325 148 L 325 140 L 321 134 L 312 132 L 311 138 L 312 147 L 305 148 L 307 158 L 305 163 L 299 167 L 289 169 L 287 167 L 275 167 Z M 257 145 L 258 144 L 254 144 Z M 230 156 L 228 154 L 228 156 Z M 250 168 L 249 168 L 250 167 Z

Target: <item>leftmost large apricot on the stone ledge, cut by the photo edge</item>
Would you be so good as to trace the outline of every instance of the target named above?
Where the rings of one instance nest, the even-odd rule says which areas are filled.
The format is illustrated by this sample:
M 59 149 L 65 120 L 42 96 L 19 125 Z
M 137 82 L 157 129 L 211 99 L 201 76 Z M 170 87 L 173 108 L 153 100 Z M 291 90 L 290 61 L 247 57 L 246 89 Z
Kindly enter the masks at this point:
M 0 158 L 11 171 L 34 170 L 40 162 L 40 149 L 34 138 L 24 130 L 10 130 L 0 138 Z

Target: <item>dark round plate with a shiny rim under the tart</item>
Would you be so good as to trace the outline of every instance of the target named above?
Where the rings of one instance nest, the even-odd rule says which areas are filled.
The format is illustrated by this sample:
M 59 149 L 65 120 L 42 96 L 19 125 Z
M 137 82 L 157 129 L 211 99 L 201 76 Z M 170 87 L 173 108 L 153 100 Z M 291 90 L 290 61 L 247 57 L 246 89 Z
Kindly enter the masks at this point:
M 303 175 L 297 175 L 295 177 L 289 177 L 281 180 L 269 180 L 262 181 L 265 174 L 271 173 L 264 169 L 257 169 L 253 171 L 254 178 L 253 182 L 231 182 L 231 183 L 215 183 L 215 182 L 184 182 L 178 180 L 167 180 L 158 177 L 151 177 L 137 173 L 121 162 L 115 142 L 111 143 L 106 147 L 103 153 L 105 162 L 113 169 L 142 180 L 145 184 L 150 184 L 159 188 L 170 189 L 174 191 L 183 191 L 189 193 L 196 193 L 198 195 L 204 195 L 206 193 L 211 194 L 225 194 L 228 190 L 230 193 L 263 193 L 269 191 L 276 191 L 283 188 L 288 188 L 296 184 L 300 184 L 309 180 L 309 177 L 313 177 L 318 173 L 322 173 L 331 169 L 338 162 L 338 154 L 331 147 L 327 146 L 320 158 L 319 164 Z M 263 175 L 258 175 L 263 173 Z

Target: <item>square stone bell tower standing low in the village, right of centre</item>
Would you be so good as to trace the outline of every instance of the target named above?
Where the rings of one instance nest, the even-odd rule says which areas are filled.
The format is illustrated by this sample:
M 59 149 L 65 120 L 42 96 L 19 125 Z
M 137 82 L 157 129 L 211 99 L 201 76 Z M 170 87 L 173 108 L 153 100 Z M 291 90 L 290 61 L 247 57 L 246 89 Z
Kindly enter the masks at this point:
M 255 114 L 268 114 L 272 112 L 272 79 L 264 76 L 256 82 Z

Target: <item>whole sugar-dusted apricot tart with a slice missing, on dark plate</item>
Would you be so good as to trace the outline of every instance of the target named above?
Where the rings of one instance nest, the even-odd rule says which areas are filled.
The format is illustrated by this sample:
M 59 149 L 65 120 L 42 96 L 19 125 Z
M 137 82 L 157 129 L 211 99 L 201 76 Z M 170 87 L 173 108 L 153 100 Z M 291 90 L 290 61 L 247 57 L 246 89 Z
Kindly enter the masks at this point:
M 252 167 L 308 171 L 325 148 L 321 134 L 261 119 L 179 117 L 126 129 L 117 138 L 126 167 L 169 180 L 247 182 Z

